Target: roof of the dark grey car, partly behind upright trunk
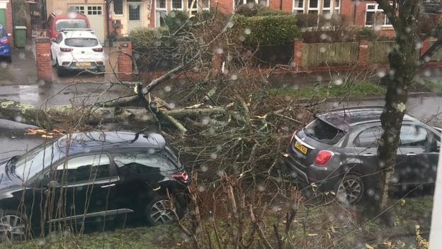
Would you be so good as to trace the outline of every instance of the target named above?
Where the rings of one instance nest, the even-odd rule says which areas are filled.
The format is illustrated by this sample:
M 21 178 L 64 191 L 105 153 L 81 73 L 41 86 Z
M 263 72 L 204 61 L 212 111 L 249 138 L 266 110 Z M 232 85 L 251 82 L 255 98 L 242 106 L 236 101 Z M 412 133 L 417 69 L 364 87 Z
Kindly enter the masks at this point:
M 333 109 L 325 114 L 318 114 L 317 118 L 341 131 L 348 131 L 351 126 L 363 123 L 380 122 L 380 114 L 384 106 L 351 106 L 341 109 Z M 416 121 L 409 114 L 404 115 L 404 121 Z

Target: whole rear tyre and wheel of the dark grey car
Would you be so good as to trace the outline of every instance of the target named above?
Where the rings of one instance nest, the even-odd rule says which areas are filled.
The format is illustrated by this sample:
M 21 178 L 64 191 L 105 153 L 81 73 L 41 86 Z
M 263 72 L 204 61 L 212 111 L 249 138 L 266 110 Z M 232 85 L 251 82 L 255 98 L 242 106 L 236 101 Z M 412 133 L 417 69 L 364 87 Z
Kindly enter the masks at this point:
M 365 185 L 359 175 L 346 173 L 338 182 L 335 192 L 337 201 L 349 205 L 358 204 L 365 193 Z

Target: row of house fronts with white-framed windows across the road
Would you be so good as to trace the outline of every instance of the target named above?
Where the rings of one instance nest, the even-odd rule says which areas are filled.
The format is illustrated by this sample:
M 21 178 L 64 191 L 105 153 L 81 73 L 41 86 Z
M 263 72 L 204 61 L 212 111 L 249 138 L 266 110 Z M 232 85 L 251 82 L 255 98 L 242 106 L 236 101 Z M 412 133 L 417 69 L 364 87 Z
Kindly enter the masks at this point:
M 433 0 L 438 1 L 438 0 Z M 2 2 L 8 0 L 0 0 Z M 108 0 L 108 18 L 106 16 L 105 0 L 46 0 L 47 13 L 78 11 L 88 16 L 91 28 L 96 30 L 101 40 L 106 38 L 107 27 L 109 32 L 115 31 L 119 35 L 127 35 L 137 27 L 156 28 L 162 26 L 162 17 L 173 10 L 196 13 L 216 8 L 225 13 L 234 13 L 236 6 L 254 2 L 272 9 L 286 12 L 312 13 L 324 15 L 339 13 L 346 16 L 354 26 L 373 27 L 380 35 L 394 36 L 395 32 L 382 9 L 376 1 L 355 0 Z M 431 3 L 434 5 L 434 3 Z M 436 3 L 434 6 L 441 6 Z M 433 10 L 428 2 L 425 9 Z M 437 9 L 437 8 L 436 8 Z M 439 8 L 441 9 L 441 8 Z M 109 23 L 106 23 L 109 20 Z

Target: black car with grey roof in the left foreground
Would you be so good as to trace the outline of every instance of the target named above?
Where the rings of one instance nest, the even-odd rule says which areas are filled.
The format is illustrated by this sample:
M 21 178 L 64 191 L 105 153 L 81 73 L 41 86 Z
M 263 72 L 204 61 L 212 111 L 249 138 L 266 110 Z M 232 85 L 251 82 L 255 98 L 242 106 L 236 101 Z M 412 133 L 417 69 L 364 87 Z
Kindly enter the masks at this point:
M 182 216 L 186 209 L 190 180 L 157 133 L 64 135 L 1 162 L 0 233 L 21 237 L 26 228 L 65 222 L 101 226 L 122 216 L 169 223 L 176 218 L 172 210 Z

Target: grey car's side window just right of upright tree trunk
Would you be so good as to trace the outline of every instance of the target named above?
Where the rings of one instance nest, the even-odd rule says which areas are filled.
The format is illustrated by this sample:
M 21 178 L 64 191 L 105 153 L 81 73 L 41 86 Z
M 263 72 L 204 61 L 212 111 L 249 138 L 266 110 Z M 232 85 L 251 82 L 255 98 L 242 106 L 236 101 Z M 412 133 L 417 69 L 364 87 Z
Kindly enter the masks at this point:
M 401 147 L 429 146 L 429 134 L 421 126 L 403 125 L 399 138 Z

